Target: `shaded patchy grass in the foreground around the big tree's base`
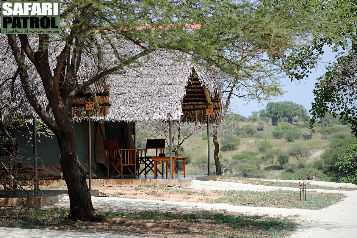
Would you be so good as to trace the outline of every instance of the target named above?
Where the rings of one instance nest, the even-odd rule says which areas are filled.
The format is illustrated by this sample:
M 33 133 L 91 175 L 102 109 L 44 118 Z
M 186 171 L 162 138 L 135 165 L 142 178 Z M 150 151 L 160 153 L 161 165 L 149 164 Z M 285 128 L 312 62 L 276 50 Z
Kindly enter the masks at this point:
M 1 209 L 2 227 L 16 227 L 25 229 L 61 229 L 77 232 L 106 232 L 117 234 L 171 234 L 173 237 L 271 237 L 281 238 L 296 229 L 296 223 L 279 217 L 240 216 L 225 214 L 188 213 L 176 214 L 171 212 L 143 211 L 143 212 L 103 212 L 105 216 L 120 217 L 133 221 L 152 223 L 172 223 L 188 227 L 196 227 L 200 232 L 185 230 L 142 228 L 125 226 L 116 223 L 82 222 L 66 220 L 69 208 L 39 209 Z

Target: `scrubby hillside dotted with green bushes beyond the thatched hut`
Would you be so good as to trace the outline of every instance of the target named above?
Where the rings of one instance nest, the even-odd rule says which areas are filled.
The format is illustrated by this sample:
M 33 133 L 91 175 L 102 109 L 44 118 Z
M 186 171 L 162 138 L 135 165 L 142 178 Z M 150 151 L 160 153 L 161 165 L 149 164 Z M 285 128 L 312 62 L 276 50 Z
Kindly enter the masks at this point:
M 296 121 L 293 124 L 279 122 L 278 126 L 263 121 L 240 122 L 227 127 L 218 134 L 222 171 L 235 177 L 273 179 L 309 179 L 316 173 L 321 181 L 338 181 L 338 170 L 333 168 L 326 151 L 335 148 L 330 145 L 336 141 L 344 141 L 348 147 L 356 138 L 349 125 L 334 124 L 317 126 L 315 133 L 307 122 Z M 187 139 L 182 148 L 179 155 L 190 158 L 186 173 L 206 174 L 205 134 Z M 211 174 L 214 174 L 212 138 L 210 150 Z

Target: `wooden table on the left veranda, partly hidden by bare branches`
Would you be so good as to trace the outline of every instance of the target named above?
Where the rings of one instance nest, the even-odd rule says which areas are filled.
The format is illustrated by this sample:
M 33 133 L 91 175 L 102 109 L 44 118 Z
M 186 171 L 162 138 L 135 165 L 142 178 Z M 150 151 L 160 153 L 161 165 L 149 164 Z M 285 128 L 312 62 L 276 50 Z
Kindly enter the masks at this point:
M 39 182 L 40 182 L 40 172 L 43 168 L 37 168 L 37 177 L 36 177 L 36 195 L 39 194 L 40 192 L 40 187 L 39 187 Z M 3 176 L 3 181 L 2 184 L 4 186 L 4 197 L 6 197 L 6 191 L 7 191 L 7 186 L 11 186 L 12 194 L 16 193 L 16 188 L 17 188 L 17 177 L 18 175 L 16 173 L 29 173 L 33 176 L 35 169 L 34 168 L 1 168 L 1 170 L 4 170 L 4 173 L 2 174 Z M 14 177 L 11 182 L 9 182 L 11 177 Z M 9 181 L 8 181 L 9 180 Z M 34 184 L 35 186 L 35 184 Z

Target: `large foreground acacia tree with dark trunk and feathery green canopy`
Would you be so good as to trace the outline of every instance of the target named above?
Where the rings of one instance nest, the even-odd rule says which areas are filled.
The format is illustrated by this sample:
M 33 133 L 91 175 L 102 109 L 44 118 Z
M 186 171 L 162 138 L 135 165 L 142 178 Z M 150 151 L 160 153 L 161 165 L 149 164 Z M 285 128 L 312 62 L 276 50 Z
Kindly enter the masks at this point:
M 76 152 L 71 110 L 77 93 L 130 66 L 140 57 L 165 48 L 187 52 L 205 60 L 208 66 L 215 66 L 223 76 L 234 79 L 228 88 L 240 85 L 247 91 L 238 96 L 279 95 L 280 84 L 277 77 L 271 75 L 280 72 L 282 66 L 302 64 L 289 64 L 291 58 L 286 57 L 286 52 L 297 52 L 305 46 L 313 31 L 319 34 L 324 21 L 320 16 L 324 16 L 325 9 L 320 7 L 311 14 L 297 8 L 298 2 L 269 5 L 248 0 L 67 0 L 61 2 L 61 34 L 9 34 L 6 40 L 5 35 L 1 35 L 2 42 L 7 44 L 5 48 L 12 52 L 12 59 L 5 54 L 1 56 L 3 67 L 17 66 L 11 75 L 1 75 L 1 79 L 6 79 L 1 86 L 10 88 L 20 80 L 27 100 L 55 133 L 70 196 L 69 217 L 102 219 L 93 209 L 85 172 Z M 126 54 L 124 41 L 139 46 L 142 51 L 136 55 Z M 79 83 L 78 71 L 84 63 L 84 54 L 92 55 L 96 68 L 92 69 L 93 75 Z M 64 62 L 66 75 L 61 91 Z M 38 75 L 41 80 L 38 85 L 29 80 L 31 74 Z M 45 92 L 45 102 L 37 97 L 36 88 Z M 13 93 L 15 90 L 6 101 L 15 100 Z M 1 106 L 6 111 L 1 114 L 9 115 L 11 108 Z

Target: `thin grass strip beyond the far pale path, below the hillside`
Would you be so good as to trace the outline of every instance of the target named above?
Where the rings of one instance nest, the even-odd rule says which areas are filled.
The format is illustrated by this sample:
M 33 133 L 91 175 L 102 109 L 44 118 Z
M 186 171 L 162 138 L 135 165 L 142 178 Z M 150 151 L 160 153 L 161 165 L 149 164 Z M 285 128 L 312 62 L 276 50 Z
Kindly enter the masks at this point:
M 227 178 L 227 177 L 226 177 Z M 251 180 L 251 179 L 238 179 L 232 178 L 237 180 L 237 182 L 245 182 L 248 184 L 255 184 L 255 185 L 265 185 L 265 186 L 276 186 L 276 187 L 287 187 L 287 188 L 298 188 L 299 183 L 295 182 L 275 182 L 275 181 L 266 181 L 266 180 Z M 339 191 L 355 191 L 357 188 L 348 188 L 343 187 L 343 183 L 341 183 L 341 187 L 331 187 L 331 186 L 322 186 L 322 185 L 313 185 L 311 183 L 306 184 L 306 188 L 308 189 L 328 189 L 328 190 L 339 190 Z

